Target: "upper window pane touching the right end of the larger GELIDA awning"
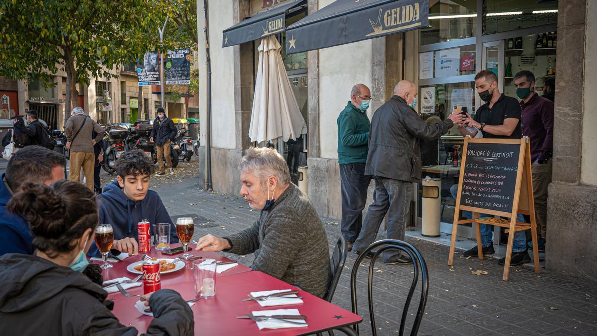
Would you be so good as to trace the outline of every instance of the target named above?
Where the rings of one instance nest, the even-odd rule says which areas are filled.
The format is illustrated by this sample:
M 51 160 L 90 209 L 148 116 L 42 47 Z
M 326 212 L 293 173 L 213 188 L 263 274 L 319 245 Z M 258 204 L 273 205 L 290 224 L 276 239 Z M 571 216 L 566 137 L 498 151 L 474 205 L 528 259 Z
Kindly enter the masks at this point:
M 439 0 L 429 4 L 429 27 L 420 29 L 427 45 L 475 36 L 476 1 Z

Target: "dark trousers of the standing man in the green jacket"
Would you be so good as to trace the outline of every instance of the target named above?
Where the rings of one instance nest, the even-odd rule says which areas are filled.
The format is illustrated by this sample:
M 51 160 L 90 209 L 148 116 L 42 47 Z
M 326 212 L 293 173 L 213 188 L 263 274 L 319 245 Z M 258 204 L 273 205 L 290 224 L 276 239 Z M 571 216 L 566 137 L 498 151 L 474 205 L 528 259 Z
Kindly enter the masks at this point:
M 340 231 L 346 242 L 353 243 L 361 232 L 363 209 L 371 178 L 365 176 L 364 163 L 340 164 L 342 221 Z

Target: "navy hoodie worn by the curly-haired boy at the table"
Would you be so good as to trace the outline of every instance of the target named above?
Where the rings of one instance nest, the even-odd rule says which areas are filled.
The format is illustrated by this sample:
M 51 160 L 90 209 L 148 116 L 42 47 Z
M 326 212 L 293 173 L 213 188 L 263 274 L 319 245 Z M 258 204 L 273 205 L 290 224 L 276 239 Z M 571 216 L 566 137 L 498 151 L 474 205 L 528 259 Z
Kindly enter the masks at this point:
M 106 184 L 103 193 L 97 196 L 99 206 L 100 225 L 110 224 L 114 229 L 114 240 L 131 237 L 137 239 L 137 223 L 147 219 L 149 221 L 151 234 L 153 236 L 153 224 L 170 223 L 170 243 L 178 243 L 176 227 L 172 223 L 168 211 L 159 198 L 158 193 L 148 190 L 147 195 L 141 201 L 130 200 L 122 191 L 118 181 Z M 112 250 L 115 252 L 115 250 Z M 115 253 L 118 255 L 119 253 Z M 95 243 L 87 252 L 88 256 L 101 256 Z

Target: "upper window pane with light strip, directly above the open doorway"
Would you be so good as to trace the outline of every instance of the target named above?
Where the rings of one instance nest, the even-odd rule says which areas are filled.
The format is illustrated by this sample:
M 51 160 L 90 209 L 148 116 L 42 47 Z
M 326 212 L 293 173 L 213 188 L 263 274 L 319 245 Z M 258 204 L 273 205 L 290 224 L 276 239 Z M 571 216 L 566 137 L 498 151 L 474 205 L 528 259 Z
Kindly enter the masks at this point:
M 484 0 L 483 34 L 549 25 L 558 22 L 558 1 Z

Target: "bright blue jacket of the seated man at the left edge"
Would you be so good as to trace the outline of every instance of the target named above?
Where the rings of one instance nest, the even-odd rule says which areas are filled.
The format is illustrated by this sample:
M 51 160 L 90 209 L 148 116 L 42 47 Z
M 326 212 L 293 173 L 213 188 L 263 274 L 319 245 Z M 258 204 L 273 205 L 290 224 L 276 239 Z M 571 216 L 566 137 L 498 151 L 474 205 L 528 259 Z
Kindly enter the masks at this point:
M 0 181 L 0 255 L 5 253 L 33 254 L 33 237 L 29 225 L 19 215 L 8 213 L 6 204 L 13 198 L 6 185 L 6 174 Z

